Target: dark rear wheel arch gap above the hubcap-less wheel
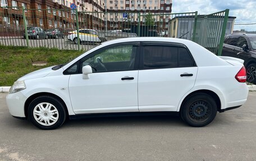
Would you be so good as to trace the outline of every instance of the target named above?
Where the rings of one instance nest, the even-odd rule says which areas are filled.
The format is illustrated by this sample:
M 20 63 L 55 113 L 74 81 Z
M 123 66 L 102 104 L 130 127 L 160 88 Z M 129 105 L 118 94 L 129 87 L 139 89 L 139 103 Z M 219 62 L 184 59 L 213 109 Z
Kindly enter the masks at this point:
M 200 90 L 195 90 L 193 92 L 191 92 L 190 94 L 186 95 L 185 98 L 182 100 L 182 103 L 180 104 L 180 107 L 178 108 L 177 111 L 181 111 L 180 109 L 182 108 L 183 104 L 186 102 L 186 100 L 188 98 L 190 98 L 193 95 L 196 95 L 198 93 L 204 93 L 204 94 L 208 94 L 211 95 L 212 98 L 215 100 L 216 104 L 217 104 L 217 111 L 220 112 L 221 111 L 221 99 L 220 97 L 212 90 L 208 90 L 208 89 L 200 89 Z

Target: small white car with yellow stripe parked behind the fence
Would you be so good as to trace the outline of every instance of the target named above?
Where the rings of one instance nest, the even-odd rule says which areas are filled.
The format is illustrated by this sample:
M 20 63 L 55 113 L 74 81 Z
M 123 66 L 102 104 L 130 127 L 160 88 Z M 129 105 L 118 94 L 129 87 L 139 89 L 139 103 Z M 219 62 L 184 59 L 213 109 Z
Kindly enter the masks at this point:
M 78 38 L 76 31 L 68 32 L 67 39 L 78 44 Z M 79 30 L 80 43 L 100 43 L 98 32 L 92 29 L 80 29 Z

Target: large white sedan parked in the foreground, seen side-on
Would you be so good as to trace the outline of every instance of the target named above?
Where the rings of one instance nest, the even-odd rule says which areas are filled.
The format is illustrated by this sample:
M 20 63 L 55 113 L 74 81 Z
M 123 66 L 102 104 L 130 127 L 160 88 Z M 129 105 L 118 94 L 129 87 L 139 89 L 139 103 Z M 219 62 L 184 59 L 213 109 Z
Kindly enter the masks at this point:
M 7 105 L 12 116 L 47 130 L 88 114 L 147 112 L 178 112 L 200 127 L 246 102 L 245 81 L 240 59 L 217 57 L 189 40 L 124 38 L 21 77 Z

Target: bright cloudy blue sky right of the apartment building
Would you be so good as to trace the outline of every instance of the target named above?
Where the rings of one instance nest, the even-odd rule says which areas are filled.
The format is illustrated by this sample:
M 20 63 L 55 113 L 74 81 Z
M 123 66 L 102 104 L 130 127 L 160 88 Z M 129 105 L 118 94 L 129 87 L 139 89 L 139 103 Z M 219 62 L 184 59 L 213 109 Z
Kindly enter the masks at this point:
M 256 0 L 172 0 L 172 13 L 195 12 L 210 14 L 230 9 L 228 16 L 234 16 L 234 30 L 256 31 Z

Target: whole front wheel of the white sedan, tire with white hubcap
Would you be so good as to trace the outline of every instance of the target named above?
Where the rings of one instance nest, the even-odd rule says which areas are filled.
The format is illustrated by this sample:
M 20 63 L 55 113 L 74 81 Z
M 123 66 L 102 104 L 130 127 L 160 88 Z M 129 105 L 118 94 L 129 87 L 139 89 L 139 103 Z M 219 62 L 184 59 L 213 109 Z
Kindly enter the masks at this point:
M 47 104 L 50 104 L 49 108 L 46 108 Z M 43 109 L 42 106 L 44 107 Z M 43 130 L 53 130 L 60 127 L 65 122 L 66 115 L 65 107 L 60 100 L 49 95 L 38 96 L 30 103 L 28 109 L 29 120 L 36 127 Z M 49 120 L 50 117 L 55 119 Z M 38 119 L 37 121 L 36 118 Z M 39 119 L 42 119 L 42 121 Z

